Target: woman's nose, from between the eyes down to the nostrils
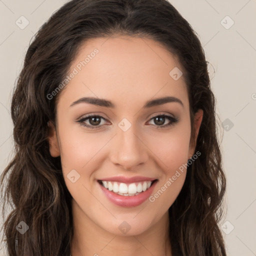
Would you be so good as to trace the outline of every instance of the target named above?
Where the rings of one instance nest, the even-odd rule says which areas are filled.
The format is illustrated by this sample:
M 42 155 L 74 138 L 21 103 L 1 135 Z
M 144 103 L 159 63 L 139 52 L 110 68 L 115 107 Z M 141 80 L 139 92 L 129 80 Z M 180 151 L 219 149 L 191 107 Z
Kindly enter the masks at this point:
M 131 125 L 126 131 L 117 127 L 117 134 L 110 148 L 111 162 L 126 170 L 135 169 L 137 165 L 145 163 L 148 159 L 145 141 L 136 132 L 135 125 Z

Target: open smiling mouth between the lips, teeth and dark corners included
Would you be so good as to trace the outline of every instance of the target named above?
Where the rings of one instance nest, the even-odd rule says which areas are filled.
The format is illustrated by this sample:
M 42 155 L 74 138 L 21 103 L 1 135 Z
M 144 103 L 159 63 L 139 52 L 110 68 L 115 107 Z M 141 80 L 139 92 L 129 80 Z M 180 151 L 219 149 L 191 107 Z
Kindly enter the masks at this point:
M 117 181 L 97 180 L 108 191 L 122 196 L 135 196 L 147 191 L 158 179 L 123 183 Z

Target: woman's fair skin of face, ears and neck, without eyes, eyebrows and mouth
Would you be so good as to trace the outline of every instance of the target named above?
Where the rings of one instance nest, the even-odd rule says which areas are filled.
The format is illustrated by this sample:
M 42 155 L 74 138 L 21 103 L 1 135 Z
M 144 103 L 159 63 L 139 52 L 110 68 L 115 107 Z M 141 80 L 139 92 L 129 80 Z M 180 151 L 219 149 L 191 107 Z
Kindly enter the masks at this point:
M 60 155 L 65 184 L 72 195 L 71 255 L 170 256 L 168 208 L 182 188 L 186 169 L 153 202 L 147 199 L 134 207 L 109 201 L 97 180 L 118 175 L 153 177 L 158 179 L 154 194 L 195 153 L 203 112 L 199 109 L 195 114 L 192 140 L 183 76 L 174 80 L 169 75 L 174 67 L 182 68 L 159 43 L 130 36 L 93 38 L 82 45 L 70 70 L 94 48 L 99 52 L 58 95 L 56 127 L 49 123 L 50 153 Z M 183 105 L 167 102 L 143 108 L 146 101 L 164 96 L 176 97 Z M 104 98 L 115 107 L 86 102 L 70 106 L 81 97 Z M 77 122 L 87 114 L 104 119 L 97 128 L 89 129 Z M 178 121 L 157 129 L 171 121 L 165 118 L 159 124 L 152 118 L 156 114 Z M 126 131 L 118 126 L 123 118 L 131 124 Z M 83 123 L 93 126 L 91 119 Z M 67 178 L 72 169 L 80 175 L 74 183 Z M 123 221 L 130 226 L 125 234 L 118 228 Z

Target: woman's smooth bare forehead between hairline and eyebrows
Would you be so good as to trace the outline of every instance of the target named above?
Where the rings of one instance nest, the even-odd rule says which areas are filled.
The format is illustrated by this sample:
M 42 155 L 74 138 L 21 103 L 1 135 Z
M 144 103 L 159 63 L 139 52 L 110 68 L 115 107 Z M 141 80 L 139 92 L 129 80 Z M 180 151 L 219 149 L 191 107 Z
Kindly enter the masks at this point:
M 181 98 L 185 105 L 186 85 L 182 76 L 173 79 L 173 68 L 182 70 L 173 54 L 152 39 L 91 38 L 80 46 L 72 61 L 69 73 L 75 75 L 63 94 L 73 100 L 84 95 L 114 96 L 120 102 L 130 98 L 144 102 L 154 95 L 170 95 Z

